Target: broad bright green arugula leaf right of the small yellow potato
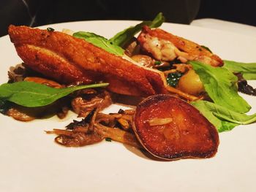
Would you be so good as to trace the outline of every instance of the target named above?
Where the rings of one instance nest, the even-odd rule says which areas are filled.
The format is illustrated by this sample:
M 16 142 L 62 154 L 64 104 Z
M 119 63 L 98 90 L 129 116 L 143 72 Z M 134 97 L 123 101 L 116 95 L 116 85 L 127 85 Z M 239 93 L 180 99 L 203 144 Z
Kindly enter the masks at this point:
M 238 95 L 237 77 L 232 72 L 197 61 L 189 61 L 189 64 L 199 75 L 208 96 L 215 104 L 240 113 L 251 109 L 249 104 Z

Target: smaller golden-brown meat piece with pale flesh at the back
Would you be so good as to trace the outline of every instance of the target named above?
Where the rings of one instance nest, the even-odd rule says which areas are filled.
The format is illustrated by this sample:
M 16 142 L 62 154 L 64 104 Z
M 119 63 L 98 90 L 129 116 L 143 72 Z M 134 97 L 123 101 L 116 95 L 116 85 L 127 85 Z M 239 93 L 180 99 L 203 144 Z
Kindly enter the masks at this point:
M 143 50 L 160 61 L 173 61 L 175 58 L 187 61 L 200 61 L 211 66 L 222 66 L 223 61 L 206 48 L 162 29 L 151 30 L 148 26 L 138 37 Z

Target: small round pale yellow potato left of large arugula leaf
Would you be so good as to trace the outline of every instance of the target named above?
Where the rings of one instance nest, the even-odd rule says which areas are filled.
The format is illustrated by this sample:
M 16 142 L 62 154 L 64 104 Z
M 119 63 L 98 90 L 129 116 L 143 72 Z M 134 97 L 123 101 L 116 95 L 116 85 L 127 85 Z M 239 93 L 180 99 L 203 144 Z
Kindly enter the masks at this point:
M 204 91 L 200 77 L 192 69 L 181 77 L 178 81 L 177 88 L 194 96 L 197 96 Z

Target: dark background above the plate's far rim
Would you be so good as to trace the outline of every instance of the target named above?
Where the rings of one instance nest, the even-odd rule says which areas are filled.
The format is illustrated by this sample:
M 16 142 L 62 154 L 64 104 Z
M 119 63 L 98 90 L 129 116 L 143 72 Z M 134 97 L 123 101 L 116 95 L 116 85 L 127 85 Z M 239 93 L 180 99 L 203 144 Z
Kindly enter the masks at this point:
M 151 20 L 189 24 L 217 18 L 256 26 L 254 0 L 0 0 L 0 36 L 10 24 L 41 26 L 75 20 Z

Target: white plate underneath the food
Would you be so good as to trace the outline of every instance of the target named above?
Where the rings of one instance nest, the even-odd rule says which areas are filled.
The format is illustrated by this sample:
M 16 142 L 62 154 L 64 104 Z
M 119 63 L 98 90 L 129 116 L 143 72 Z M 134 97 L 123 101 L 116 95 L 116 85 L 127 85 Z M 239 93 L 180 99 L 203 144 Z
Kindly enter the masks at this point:
M 87 21 L 51 27 L 111 37 L 135 23 Z M 161 28 L 211 47 L 222 58 L 256 61 L 256 39 L 170 23 Z M 9 37 L 0 38 L 0 50 L 0 82 L 4 83 L 9 67 L 20 58 Z M 255 97 L 243 96 L 255 112 Z M 112 106 L 107 112 L 117 110 Z M 45 134 L 44 130 L 64 128 L 73 118 L 75 115 L 65 120 L 22 123 L 0 115 L 0 191 L 255 191 L 255 124 L 219 134 L 219 151 L 214 158 L 162 162 L 116 142 L 61 147 L 53 141 L 54 135 Z

